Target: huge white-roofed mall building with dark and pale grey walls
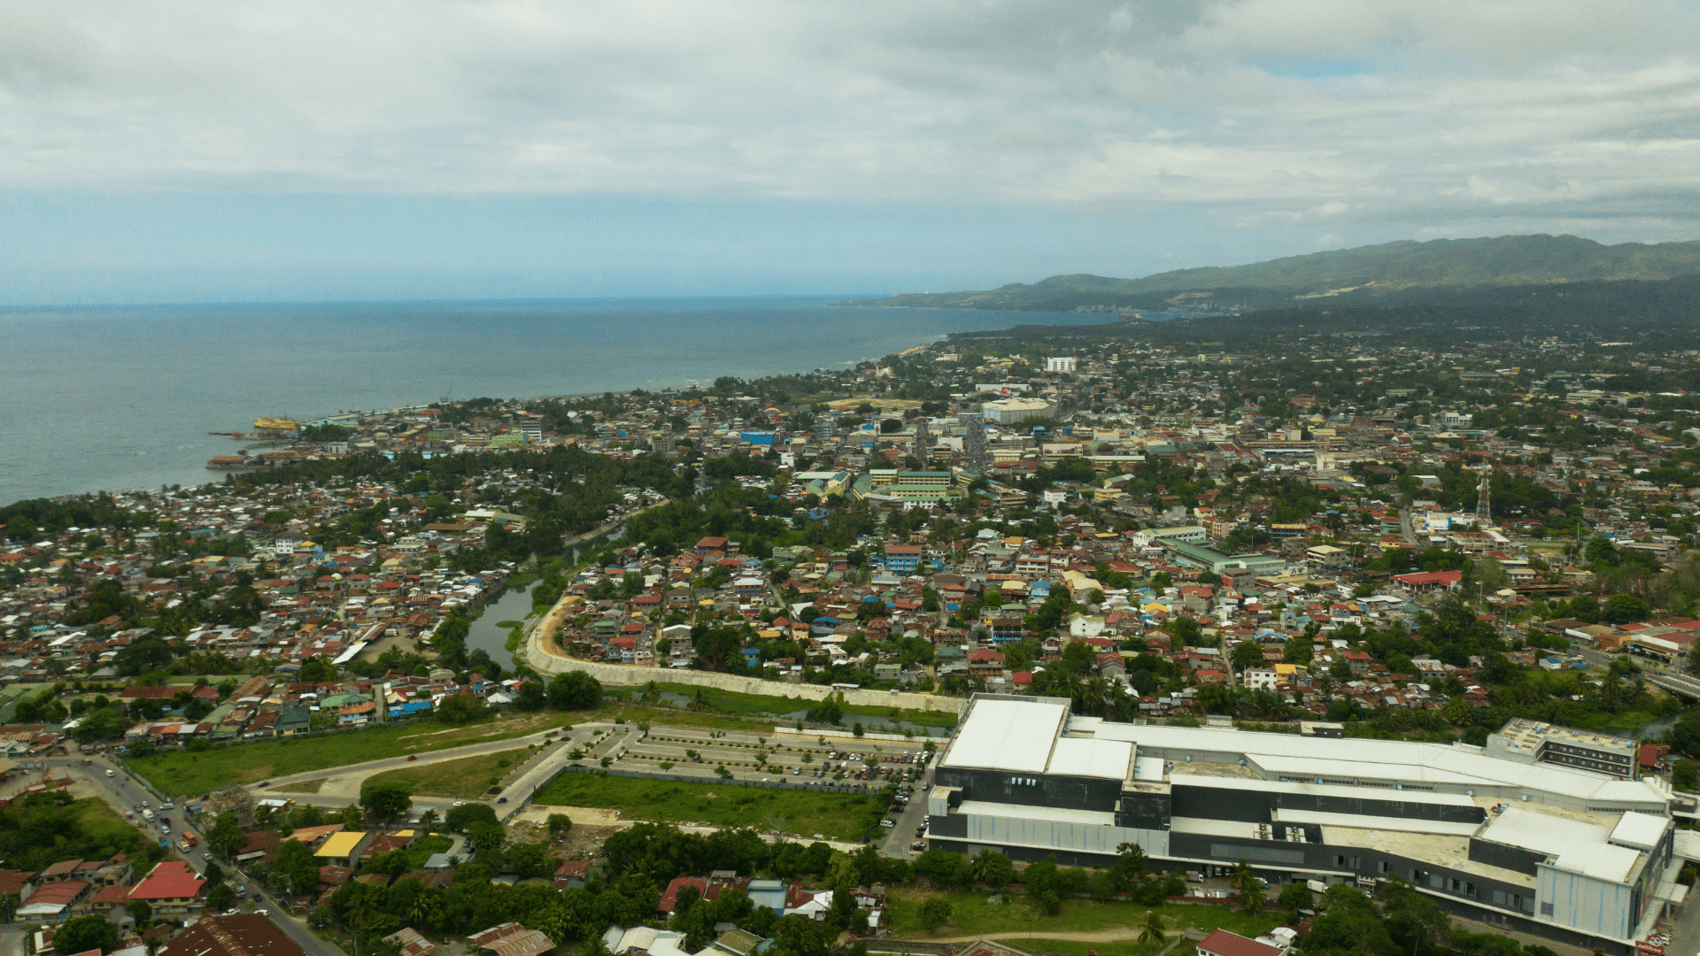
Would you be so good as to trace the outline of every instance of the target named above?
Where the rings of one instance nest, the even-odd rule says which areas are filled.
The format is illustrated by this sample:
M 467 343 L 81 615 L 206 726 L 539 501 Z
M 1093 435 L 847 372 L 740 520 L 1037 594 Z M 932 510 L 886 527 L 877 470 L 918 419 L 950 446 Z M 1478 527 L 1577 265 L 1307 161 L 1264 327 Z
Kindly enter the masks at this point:
M 935 849 L 1078 866 L 1137 844 L 1163 868 L 1246 861 L 1272 883 L 1397 878 L 1448 913 L 1622 954 L 1700 857 L 1659 779 L 1462 743 L 1108 723 L 1059 697 L 976 696 L 926 810 Z

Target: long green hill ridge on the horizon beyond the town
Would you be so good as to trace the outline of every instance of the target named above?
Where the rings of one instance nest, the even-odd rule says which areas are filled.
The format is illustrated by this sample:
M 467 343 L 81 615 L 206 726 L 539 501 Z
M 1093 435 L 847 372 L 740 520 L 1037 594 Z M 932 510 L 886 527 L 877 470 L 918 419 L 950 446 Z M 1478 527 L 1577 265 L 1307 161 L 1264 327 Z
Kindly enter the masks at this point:
M 1188 304 L 1272 308 L 1309 298 L 1477 286 L 1673 279 L 1700 274 L 1700 242 L 1600 245 L 1578 236 L 1389 242 L 1251 265 L 1178 269 L 1144 279 L 1052 276 L 976 293 L 904 294 L 840 304 L 1069 311 Z

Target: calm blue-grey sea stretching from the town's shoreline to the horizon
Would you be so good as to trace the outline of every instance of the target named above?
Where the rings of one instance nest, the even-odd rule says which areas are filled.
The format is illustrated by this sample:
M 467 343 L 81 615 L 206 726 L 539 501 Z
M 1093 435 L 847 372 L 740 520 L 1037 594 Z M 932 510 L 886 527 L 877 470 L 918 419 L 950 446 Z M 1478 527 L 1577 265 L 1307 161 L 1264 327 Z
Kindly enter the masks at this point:
M 0 502 L 221 480 L 258 415 L 842 367 L 1078 315 L 826 308 L 842 296 L 0 311 Z M 1085 320 L 1090 322 L 1090 320 Z

